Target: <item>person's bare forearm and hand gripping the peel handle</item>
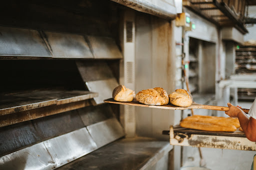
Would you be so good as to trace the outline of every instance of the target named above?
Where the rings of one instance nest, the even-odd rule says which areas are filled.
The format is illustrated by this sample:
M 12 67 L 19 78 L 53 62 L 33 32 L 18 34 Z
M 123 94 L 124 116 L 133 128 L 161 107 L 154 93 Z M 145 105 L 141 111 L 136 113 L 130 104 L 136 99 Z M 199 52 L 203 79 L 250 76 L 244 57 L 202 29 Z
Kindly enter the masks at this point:
M 249 119 L 240 108 L 230 103 L 227 103 L 227 106 L 229 107 L 229 111 L 226 111 L 225 114 L 232 118 L 238 118 L 246 138 L 252 142 L 256 142 L 256 119 L 252 117 Z

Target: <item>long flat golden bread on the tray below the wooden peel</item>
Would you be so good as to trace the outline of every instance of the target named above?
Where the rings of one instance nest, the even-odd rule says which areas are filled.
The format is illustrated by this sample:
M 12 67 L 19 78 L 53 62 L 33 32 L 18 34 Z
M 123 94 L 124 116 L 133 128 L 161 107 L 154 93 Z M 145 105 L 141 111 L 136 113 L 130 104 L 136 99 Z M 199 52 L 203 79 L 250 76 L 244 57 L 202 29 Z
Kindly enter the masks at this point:
M 240 127 L 237 118 L 193 115 L 183 119 L 180 124 L 183 128 L 203 131 L 234 132 Z

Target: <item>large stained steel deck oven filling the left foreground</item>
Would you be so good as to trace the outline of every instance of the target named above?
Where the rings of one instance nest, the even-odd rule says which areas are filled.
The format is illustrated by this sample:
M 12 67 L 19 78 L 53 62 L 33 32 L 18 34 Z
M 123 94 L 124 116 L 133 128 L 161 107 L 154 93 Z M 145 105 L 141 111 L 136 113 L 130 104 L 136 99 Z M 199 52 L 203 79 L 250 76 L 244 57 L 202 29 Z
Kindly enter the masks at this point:
M 1 170 L 170 167 L 142 111 L 103 100 L 119 84 L 174 88 L 173 0 L 10 0 L 0 13 Z

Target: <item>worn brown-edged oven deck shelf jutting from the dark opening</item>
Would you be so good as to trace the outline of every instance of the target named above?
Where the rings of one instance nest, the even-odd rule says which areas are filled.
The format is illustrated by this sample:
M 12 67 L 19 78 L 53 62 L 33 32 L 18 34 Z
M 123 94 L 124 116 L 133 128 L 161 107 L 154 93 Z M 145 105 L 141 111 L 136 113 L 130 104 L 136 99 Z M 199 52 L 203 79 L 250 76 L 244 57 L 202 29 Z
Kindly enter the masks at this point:
M 89 91 L 36 90 L 4 94 L 0 99 L 0 116 L 51 105 L 62 105 L 96 97 Z

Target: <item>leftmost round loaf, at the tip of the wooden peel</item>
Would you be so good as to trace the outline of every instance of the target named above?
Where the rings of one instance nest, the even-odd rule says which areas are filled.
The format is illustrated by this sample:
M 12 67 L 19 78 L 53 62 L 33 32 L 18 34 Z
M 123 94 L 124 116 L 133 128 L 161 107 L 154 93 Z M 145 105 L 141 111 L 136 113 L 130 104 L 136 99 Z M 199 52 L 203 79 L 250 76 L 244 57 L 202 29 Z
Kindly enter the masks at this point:
M 123 85 L 119 85 L 114 88 L 112 97 L 115 101 L 118 102 L 131 102 L 135 97 L 135 92 Z

